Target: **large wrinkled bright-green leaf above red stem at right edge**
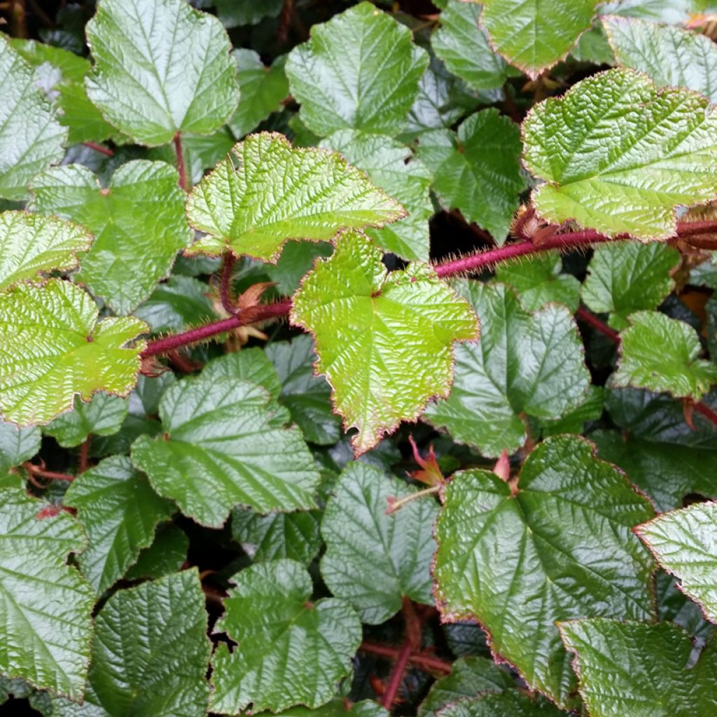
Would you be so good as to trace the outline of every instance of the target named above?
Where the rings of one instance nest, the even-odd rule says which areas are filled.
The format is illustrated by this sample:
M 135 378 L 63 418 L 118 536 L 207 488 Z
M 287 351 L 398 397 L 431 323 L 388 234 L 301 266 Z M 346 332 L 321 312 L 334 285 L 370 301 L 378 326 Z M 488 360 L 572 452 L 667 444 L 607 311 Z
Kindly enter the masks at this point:
M 546 182 L 533 204 L 550 222 L 665 239 L 676 206 L 717 194 L 715 110 L 695 92 L 658 90 L 632 70 L 588 77 L 536 105 L 523 141 L 528 170 Z

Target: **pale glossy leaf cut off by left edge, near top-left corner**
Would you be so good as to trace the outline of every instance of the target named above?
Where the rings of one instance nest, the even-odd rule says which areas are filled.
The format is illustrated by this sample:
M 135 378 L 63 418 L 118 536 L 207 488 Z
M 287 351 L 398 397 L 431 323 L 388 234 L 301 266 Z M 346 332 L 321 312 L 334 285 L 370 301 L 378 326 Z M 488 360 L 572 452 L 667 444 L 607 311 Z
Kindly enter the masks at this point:
M 21 201 L 37 172 L 59 162 L 67 130 L 35 85 L 32 67 L 0 34 L 0 196 Z

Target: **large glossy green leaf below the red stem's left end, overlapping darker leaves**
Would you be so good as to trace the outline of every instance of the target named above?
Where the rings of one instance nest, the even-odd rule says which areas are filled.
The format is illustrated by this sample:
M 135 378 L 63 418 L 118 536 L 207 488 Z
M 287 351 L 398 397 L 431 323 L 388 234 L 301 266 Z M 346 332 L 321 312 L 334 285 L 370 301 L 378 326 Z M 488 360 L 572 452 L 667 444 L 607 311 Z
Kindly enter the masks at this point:
M 266 389 L 241 379 L 203 373 L 178 381 L 159 406 L 164 435 L 139 437 L 132 460 L 157 493 L 204 526 L 222 526 L 239 503 L 260 512 L 313 508 L 318 472 L 279 408 Z

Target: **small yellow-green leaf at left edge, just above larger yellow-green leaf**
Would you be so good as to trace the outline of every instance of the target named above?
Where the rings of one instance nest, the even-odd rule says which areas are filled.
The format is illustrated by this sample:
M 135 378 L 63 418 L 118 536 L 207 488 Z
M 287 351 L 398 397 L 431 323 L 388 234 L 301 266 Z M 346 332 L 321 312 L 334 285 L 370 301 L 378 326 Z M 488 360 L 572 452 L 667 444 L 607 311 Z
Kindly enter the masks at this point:
M 39 272 L 77 266 L 77 252 L 92 244 L 92 234 L 56 217 L 28 212 L 0 214 L 0 290 Z

